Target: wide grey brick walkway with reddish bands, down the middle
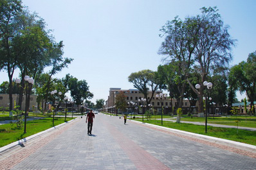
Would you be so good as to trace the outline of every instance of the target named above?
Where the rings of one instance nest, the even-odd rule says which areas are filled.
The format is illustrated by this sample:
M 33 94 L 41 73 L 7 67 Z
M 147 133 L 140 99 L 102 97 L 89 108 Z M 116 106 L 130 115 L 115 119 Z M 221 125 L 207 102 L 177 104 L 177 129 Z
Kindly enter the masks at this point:
M 256 169 L 256 158 L 119 117 L 96 115 L 88 136 L 84 121 L 24 147 L 0 169 Z

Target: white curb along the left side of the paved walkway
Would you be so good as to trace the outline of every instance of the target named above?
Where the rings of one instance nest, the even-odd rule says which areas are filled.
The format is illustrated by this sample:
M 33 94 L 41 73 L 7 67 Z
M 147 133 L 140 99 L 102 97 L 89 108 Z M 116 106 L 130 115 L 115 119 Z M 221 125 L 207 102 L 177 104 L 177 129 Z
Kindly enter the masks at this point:
M 40 135 L 43 135 L 44 133 L 50 132 L 50 131 L 52 131 L 52 130 L 55 130 L 56 128 L 59 128 L 60 126 L 63 126 L 63 125 L 65 125 L 65 124 L 67 124 L 67 123 L 70 123 L 70 122 L 72 122 L 72 121 L 75 121 L 76 119 L 78 119 L 78 117 L 75 118 L 75 119 L 72 119 L 71 121 L 68 121 L 68 122 L 66 122 L 66 123 L 59 124 L 59 125 L 57 125 L 57 126 L 54 126 L 54 127 L 52 127 L 52 128 L 49 128 L 49 129 L 44 130 L 44 131 L 42 131 L 42 132 L 35 133 L 35 134 L 33 134 L 33 135 L 29 136 L 29 137 L 25 137 L 24 139 L 17 140 L 16 142 L 12 142 L 12 143 L 10 143 L 10 144 L 8 144 L 8 145 L 6 145 L 6 146 L 3 146 L 3 147 L 0 148 L 0 154 L 3 153 L 3 152 L 5 152 L 5 151 L 7 151 L 7 150 L 9 150 L 9 149 L 14 148 L 15 146 L 19 146 L 19 145 L 21 146 L 24 142 L 28 142 L 28 140 L 32 140 L 32 139 L 34 139 L 35 137 L 39 137 Z

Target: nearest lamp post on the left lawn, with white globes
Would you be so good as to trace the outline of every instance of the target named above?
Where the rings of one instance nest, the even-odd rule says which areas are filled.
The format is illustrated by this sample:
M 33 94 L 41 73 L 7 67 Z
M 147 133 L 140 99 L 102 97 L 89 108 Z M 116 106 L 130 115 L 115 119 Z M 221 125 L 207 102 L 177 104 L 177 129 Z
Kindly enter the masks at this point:
M 30 85 L 33 85 L 34 80 L 29 76 L 24 76 L 24 80 L 28 82 L 28 87 L 26 88 L 26 102 L 25 102 L 25 114 L 24 114 L 24 133 L 26 133 L 26 116 L 28 115 L 28 103 L 30 102 L 30 94 L 28 94 L 28 90 L 30 89 Z M 16 78 L 15 83 L 19 85 L 21 80 Z

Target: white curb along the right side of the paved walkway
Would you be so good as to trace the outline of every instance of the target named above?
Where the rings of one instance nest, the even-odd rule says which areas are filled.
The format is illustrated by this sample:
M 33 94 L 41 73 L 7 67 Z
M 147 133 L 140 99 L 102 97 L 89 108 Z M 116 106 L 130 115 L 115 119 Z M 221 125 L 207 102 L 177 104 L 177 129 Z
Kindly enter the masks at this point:
M 134 121 L 134 120 L 130 120 L 130 121 Z M 152 126 L 154 128 L 158 128 L 158 129 L 167 130 L 169 132 L 179 133 L 179 134 L 186 135 L 186 136 L 189 136 L 189 137 L 196 137 L 198 139 L 208 140 L 210 142 L 215 142 L 215 143 L 223 144 L 223 145 L 226 145 L 226 146 L 231 146 L 232 145 L 233 148 L 246 149 L 248 151 L 253 151 L 253 152 L 256 153 L 256 146 L 251 145 L 251 144 L 244 144 L 242 142 L 235 142 L 233 140 L 221 139 L 221 138 L 217 138 L 217 137 L 210 137 L 210 136 L 207 136 L 207 135 L 201 135 L 201 134 L 197 134 L 197 133 L 186 132 L 186 131 L 183 131 L 183 130 L 176 130 L 176 129 L 173 129 L 173 128 L 166 128 L 166 127 L 163 127 L 163 126 L 158 126 L 156 124 L 143 123 L 143 122 L 140 122 L 140 121 L 134 121 L 134 122 L 142 123 L 142 124 L 145 124 L 147 126 Z M 253 150 L 251 150 L 251 149 L 253 149 Z

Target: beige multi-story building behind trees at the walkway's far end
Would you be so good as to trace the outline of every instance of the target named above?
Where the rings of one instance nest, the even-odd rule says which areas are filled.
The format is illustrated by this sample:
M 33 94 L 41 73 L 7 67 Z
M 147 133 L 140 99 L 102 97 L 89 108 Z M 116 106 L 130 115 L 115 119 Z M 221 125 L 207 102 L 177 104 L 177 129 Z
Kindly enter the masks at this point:
M 129 110 L 129 112 L 134 112 L 134 108 L 136 108 L 136 106 L 142 106 L 142 105 L 145 106 L 145 103 L 143 103 L 142 101 L 139 101 L 139 99 L 141 100 L 142 98 L 144 98 L 144 96 L 138 89 L 122 90 L 121 88 L 110 88 L 109 96 L 105 103 L 106 111 L 111 111 L 114 109 L 114 101 L 116 98 L 116 94 L 120 92 L 123 92 L 123 94 L 125 95 L 125 98 L 127 101 L 127 109 Z M 156 92 L 154 92 L 154 96 L 152 97 L 151 102 L 147 104 L 151 104 L 151 106 L 153 106 L 155 110 L 160 110 L 161 104 L 162 104 L 165 113 L 171 112 L 172 106 L 174 107 L 177 106 L 176 99 L 172 99 L 171 101 L 169 98 L 162 98 L 161 100 L 162 103 L 161 103 L 160 98 L 156 98 L 156 94 L 160 94 L 160 93 L 163 93 L 163 91 L 156 90 Z M 150 99 L 151 96 L 152 96 L 152 91 L 149 91 L 147 98 Z M 184 99 L 183 108 L 188 108 L 189 106 L 190 106 L 189 101 L 187 99 Z

